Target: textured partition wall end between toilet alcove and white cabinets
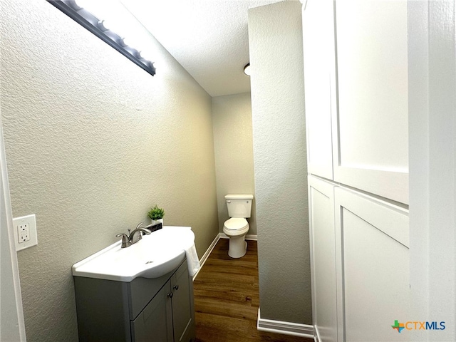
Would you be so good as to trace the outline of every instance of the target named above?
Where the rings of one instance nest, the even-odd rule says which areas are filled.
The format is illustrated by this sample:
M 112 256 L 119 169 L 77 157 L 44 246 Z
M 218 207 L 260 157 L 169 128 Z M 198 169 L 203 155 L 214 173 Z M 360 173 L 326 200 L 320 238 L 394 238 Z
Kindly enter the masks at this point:
M 311 324 L 301 4 L 249 10 L 261 318 Z

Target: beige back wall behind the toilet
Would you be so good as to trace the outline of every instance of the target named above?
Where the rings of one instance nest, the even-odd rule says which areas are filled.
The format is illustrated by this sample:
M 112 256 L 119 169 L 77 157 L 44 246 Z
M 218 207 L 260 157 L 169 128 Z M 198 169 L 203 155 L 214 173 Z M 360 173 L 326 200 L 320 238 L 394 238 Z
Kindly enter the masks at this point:
M 255 195 L 250 93 L 212 98 L 212 121 L 219 232 L 223 232 L 223 224 L 229 218 L 224 196 Z M 256 217 L 254 200 L 247 234 L 257 234 Z

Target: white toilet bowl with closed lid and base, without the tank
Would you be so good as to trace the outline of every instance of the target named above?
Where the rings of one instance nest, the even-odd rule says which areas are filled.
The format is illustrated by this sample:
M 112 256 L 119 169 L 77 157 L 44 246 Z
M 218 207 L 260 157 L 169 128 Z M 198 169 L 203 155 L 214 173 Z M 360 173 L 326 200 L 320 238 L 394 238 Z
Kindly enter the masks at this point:
M 232 217 L 223 224 L 223 232 L 229 237 L 228 255 L 232 258 L 241 258 L 247 252 L 245 236 L 249 232 L 247 219 Z

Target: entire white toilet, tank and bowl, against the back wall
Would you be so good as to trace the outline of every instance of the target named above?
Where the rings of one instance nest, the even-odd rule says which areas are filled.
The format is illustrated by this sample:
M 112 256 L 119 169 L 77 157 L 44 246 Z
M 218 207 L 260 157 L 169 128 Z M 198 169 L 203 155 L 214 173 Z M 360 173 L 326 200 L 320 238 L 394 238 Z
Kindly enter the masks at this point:
M 232 258 L 241 258 L 247 252 L 245 236 L 249 232 L 249 222 L 252 211 L 253 195 L 226 195 L 228 215 L 231 217 L 223 224 L 223 232 L 229 237 L 228 255 Z

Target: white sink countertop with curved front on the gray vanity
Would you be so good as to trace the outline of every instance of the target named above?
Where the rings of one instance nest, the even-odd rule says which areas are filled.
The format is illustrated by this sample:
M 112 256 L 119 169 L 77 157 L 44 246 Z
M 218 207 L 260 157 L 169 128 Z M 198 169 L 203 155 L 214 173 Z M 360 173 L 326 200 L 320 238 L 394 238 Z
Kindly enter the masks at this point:
M 127 248 L 121 241 L 73 265 L 73 276 L 116 281 L 158 278 L 174 270 L 192 247 L 195 234 L 190 227 L 165 226 Z

